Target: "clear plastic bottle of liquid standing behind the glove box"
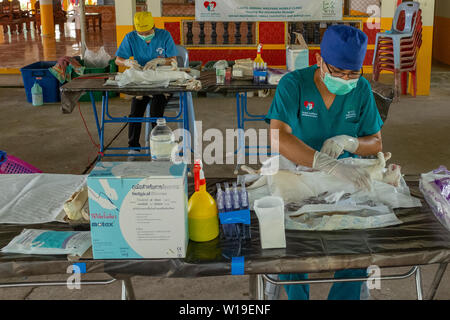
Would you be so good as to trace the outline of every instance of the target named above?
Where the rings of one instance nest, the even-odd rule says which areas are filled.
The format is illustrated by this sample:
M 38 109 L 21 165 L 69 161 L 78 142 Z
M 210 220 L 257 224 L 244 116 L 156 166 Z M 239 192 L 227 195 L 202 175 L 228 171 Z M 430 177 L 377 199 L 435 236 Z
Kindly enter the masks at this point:
M 159 118 L 150 134 L 152 160 L 170 160 L 174 146 L 175 136 L 172 130 L 166 125 L 166 119 Z

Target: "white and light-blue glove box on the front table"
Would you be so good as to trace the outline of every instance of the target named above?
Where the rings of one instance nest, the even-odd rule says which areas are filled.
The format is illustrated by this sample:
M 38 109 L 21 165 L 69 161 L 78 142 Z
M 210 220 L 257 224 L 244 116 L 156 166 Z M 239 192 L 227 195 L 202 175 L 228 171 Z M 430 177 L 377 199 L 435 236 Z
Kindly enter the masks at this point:
M 186 165 L 98 162 L 87 179 L 94 259 L 184 258 Z

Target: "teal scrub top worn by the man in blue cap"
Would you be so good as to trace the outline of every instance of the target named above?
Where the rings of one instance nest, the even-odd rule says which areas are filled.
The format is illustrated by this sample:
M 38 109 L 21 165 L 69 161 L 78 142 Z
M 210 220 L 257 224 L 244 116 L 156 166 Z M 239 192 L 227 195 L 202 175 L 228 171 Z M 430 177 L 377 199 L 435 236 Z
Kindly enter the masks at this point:
M 337 95 L 327 109 L 314 82 L 317 65 L 286 74 L 280 81 L 266 116 L 288 124 L 292 134 L 320 151 L 328 138 L 338 135 L 370 136 L 381 130 L 381 120 L 370 83 L 361 77 L 355 89 Z M 345 151 L 339 158 L 356 157 Z

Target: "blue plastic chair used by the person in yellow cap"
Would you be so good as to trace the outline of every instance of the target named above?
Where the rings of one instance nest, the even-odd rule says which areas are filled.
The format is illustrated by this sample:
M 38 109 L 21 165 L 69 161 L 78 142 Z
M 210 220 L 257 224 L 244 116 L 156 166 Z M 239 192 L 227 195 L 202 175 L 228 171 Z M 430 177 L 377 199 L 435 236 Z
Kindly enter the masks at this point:
M 176 48 L 178 51 L 178 54 L 177 54 L 178 65 L 182 66 L 183 68 L 189 68 L 188 51 L 186 50 L 185 47 L 180 46 L 180 45 L 176 45 Z M 186 95 L 187 95 L 187 103 L 188 103 L 188 114 L 184 115 L 184 116 L 185 117 L 187 116 L 189 118 L 189 131 L 191 134 L 191 141 L 190 141 L 191 144 L 190 145 L 188 144 L 188 146 L 192 146 L 192 145 L 194 145 L 194 141 L 195 141 L 194 139 L 195 139 L 195 134 L 196 134 L 194 102 L 192 100 L 191 92 L 186 92 Z M 147 109 L 145 111 L 146 117 L 150 117 L 150 106 L 151 106 L 151 99 L 150 99 L 150 102 L 148 103 Z M 179 110 L 179 106 L 180 106 L 180 94 L 175 93 L 172 95 L 172 98 L 167 103 L 165 111 Z M 166 119 L 166 122 L 175 122 L 175 121 Z M 150 146 L 150 133 L 151 133 L 150 123 L 146 122 L 146 124 L 145 124 L 145 146 L 146 147 Z

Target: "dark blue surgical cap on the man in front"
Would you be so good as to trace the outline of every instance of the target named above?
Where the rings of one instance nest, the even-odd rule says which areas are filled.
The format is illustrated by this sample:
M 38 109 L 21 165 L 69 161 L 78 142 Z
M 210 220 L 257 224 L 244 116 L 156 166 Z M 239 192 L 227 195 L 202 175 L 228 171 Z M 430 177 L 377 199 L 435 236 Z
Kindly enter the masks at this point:
M 367 35 L 361 30 L 333 25 L 324 33 L 320 54 L 326 63 L 343 70 L 360 70 L 367 51 Z

